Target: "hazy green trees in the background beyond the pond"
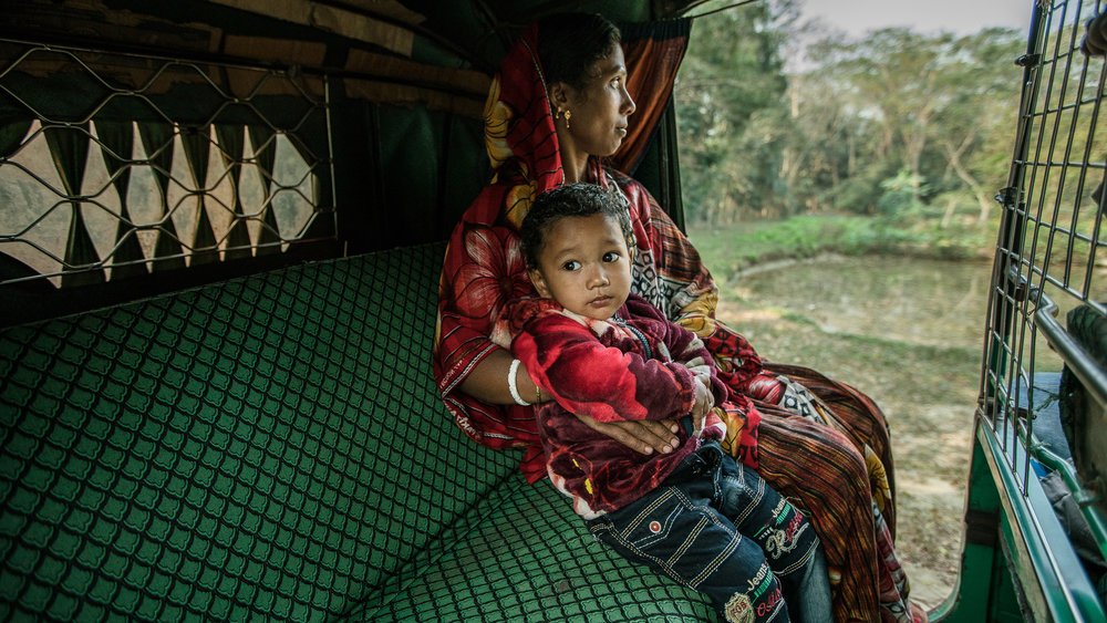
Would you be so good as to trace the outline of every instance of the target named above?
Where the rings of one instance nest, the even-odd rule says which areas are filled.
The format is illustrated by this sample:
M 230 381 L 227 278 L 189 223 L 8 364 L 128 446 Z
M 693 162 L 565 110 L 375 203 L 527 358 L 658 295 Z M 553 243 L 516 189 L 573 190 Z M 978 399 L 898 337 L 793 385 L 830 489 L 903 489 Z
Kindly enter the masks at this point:
M 896 28 L 826 38 L 789 73 L 793 24 L 790 2 L 696 22 L 676 89 L 689 218 L 986 220 L 1006 181 L 1025 35 Z

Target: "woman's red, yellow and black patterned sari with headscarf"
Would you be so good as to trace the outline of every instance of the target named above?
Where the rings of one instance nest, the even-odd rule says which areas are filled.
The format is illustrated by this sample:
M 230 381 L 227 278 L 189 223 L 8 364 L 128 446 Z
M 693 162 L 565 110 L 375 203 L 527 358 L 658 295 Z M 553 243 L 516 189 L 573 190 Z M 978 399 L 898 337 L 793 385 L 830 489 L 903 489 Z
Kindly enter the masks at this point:
M 480 444 L 521 448 L 521 470 L 531 482 L 546 476 L 532 409 L 480 402 L 459 384 L 500 349 L 490 334 L 506 304 L 535 293 L 518 225 L 534 197 L 565 180 L 541 69 L 531 52 L 535 41 L 531 28 L 504 60 L 489 92 L 486 143 L 496 175 L 449 240 L 434 360 L 438 388 L 457 425 Z M 830 568 L 835 619 L 924 620 L 908 601 L 892 546 L 892 457 L 880 409 L 817 372 L 763 362 L 742 335 L 715 320 L 717 289 L 711 274 L 650 194 L 596 158 L 587 176 L 618 188 L 630 203 L 632 291 L 699 335 L 714 355 L 720 378 L 761 412 L 758 471 L 811 516 Z M 731 422 L 728 430 L 745 424 Z M 738 454 L 738 448 L 730 451 Z

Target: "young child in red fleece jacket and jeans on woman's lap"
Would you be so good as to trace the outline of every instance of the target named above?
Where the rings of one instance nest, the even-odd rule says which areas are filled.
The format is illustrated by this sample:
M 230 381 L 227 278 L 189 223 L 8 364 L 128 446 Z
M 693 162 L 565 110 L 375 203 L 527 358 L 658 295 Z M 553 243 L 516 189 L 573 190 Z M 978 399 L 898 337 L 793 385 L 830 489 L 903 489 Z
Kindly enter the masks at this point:
M 815 529 L 722 451 L 715 405 L 736 407 L 700 339 L 630 293 L 630 236 L 622 196 L 590 184 L 541 195 L 523 222 L 542 298 L 511 303 L 501 330 L 554 397 L 536 406 L 550 479 L 597 538 L 705 593 L 723 620 L 829 621 Z M 680 443 L 639 454 L 573 414 L 677 420 Z

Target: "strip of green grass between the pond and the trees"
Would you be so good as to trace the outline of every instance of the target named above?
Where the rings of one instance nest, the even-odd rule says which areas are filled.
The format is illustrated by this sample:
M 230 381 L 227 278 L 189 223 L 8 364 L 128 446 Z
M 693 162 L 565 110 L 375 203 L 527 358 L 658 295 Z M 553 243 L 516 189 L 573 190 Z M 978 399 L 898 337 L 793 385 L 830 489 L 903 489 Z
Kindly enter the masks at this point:
M 987 257 L 994 228 L 860 216 L 798 216 L 725 226 L 692 225 L 689 238 L 716 279 L 751 267 L 823 253 L 919 256 L 934 259 Z

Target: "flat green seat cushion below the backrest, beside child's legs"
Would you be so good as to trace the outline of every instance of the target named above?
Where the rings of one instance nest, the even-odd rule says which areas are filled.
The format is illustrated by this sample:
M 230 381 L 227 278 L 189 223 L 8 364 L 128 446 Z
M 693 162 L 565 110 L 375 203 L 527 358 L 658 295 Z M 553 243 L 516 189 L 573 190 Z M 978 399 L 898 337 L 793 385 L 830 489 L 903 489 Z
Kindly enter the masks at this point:
M 597 542 L 548 480 L 520 476 L 482 501 L 487 516 L 452 548 L 418 561 L 360 621 L 704 621 L 695 591 Z

